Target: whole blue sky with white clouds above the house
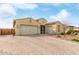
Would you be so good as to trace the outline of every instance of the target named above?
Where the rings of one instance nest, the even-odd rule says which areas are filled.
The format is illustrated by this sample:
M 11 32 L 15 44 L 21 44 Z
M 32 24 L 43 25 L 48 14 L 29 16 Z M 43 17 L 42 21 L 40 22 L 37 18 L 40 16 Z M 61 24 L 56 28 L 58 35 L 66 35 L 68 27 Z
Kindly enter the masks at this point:
M 13 28 L 13 20 L 31 17 L 61 21 L 79 27 L 78 3 L 0 3 L 0 28 Z

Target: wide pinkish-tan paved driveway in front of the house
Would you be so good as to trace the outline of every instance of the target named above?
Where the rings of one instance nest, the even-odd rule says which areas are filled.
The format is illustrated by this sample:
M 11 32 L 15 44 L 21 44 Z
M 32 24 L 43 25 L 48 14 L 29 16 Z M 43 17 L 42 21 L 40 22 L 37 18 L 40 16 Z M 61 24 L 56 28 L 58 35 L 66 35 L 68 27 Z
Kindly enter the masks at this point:
M 0 36 L 0 54 L 79 54 L 79 43 L 57 39 L 49 35 Z

